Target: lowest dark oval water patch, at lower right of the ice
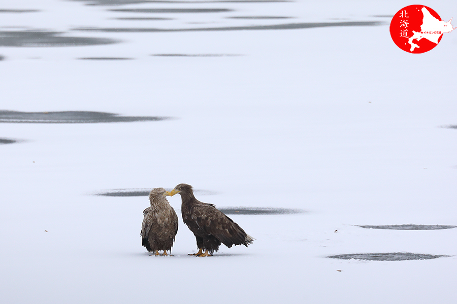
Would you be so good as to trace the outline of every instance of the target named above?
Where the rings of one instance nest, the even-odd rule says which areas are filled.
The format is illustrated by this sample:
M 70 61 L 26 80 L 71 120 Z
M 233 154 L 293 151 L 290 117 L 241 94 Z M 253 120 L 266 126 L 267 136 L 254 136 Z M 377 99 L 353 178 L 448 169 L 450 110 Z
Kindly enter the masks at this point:
M 389 253 L 353 253 L 328 256 L 338 259 L 360 259 L 369 261 L 408 261 L 420 259 L 433 259 L 438 257 L 448 257 L 449 255 L 432 255 L 411 252 L 389 252 Z

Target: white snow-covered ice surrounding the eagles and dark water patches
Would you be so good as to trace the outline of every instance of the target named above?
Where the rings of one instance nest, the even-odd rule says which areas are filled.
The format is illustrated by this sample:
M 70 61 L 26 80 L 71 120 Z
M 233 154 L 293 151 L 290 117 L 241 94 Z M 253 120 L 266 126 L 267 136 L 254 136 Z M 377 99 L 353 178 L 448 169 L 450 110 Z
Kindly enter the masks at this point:
M 356 225 L 457 224 L 457 130 L 447 128 L 457 125 L 457 33 L 427 53 L 400 50 L 389 22 L 416 4 L 404 1 L 87 4 L 97 2 L 0 4 L 38 10 L 0 13 L 0 31 L 121 41 L 0 47 L 0 109 L 174 119 L 0 123 L 1 138 L 19 141 L 0 144 L 2 302 L 455 303 L 457 229 Z M 457 17 L 454 1 L 424 4 Z M 232 11 L 110 11 L 140 8 Z M 126 17 L 169 19 L 116 19 Z M 80 30 L 346 21 L 381 25 Z M 197 247 L 180 221 L 175 256 L 155 257 L 140 240 L 147 197 L 94 195 L 178 183 L 213 192 L 196 196 L 218 207 L 305 212 L 230 215 L 256 240 L 210 258 L 187 256 Z M 169 201 L 180 217 L 180 197 Z M 449 257 L 327 257 L 376 252 Z

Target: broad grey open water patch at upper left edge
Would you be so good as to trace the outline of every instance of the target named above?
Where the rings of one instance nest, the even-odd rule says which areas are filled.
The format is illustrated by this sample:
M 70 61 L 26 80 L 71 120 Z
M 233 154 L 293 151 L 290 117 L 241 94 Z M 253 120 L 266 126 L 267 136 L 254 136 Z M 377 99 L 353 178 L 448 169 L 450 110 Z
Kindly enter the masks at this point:
M 0 47 L 74 47 L 114 44 L 108 38 L 66 37 L 61 32 L 26 30 L 0 31 Z

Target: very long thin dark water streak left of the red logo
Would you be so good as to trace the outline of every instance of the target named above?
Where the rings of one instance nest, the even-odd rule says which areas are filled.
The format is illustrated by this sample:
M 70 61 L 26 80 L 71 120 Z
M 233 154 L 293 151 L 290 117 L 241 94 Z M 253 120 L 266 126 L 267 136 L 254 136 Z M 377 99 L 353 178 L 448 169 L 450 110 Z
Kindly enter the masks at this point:
M 183 31 L 227 31 L 227 30 L 272 30 L 272 29 L 303 29 L 316 27 L 337 26 L 378 26 L 384 24 L 378 21 L 348 21 L 348 22 L 313 22 L 288 23 L 274 25 L 231 26 L 231 27 L 204 27 L 204 28 L 101 28 L 80 27 L 73 30 L 91 32 L 183 32 Z

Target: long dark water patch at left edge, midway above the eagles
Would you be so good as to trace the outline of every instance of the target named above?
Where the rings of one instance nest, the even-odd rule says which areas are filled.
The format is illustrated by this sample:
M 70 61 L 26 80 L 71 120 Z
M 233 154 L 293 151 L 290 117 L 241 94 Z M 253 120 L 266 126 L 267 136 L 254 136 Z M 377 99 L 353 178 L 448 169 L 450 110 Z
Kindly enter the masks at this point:
M 118 114 L 114 113 L 90 111 L 18 112 L 0 110 L 0 123 L 80 124 L 161 121 L 167 119 L 171 118 L 154 116 L 118 116 Z

